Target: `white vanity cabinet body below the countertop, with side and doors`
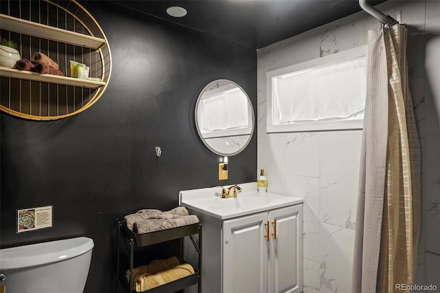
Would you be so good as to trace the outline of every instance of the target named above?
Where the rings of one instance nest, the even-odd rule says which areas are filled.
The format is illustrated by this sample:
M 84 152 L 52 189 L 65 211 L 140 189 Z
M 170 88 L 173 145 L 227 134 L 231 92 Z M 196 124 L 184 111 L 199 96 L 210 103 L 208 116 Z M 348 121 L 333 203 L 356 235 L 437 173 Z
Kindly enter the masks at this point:
M 187 208 L 203 226 L 202 293 L 303 291 L 303 204 L 229 219 Z M 189 241 L 184 254 L 196 260 Z

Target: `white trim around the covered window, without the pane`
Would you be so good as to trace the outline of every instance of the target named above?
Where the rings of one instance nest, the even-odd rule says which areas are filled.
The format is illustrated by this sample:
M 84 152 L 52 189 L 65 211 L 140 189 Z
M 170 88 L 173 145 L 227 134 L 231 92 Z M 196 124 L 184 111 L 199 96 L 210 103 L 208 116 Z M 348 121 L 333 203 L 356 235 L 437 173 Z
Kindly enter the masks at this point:
M 283 74 L 289 74 L 292 72 L 298 72 L 304 69 L 310 69 L 322 65 L 328 65 L 330 63 L 336 63 L 359 56 L 368 55 L 368 45 L 362 45 L 355 47 L 351 50 L 338 52 L 321 58 L 316 58 L 311 61 L 298 63 L 276 69 L 266 73 L 267 83 L 267 133 L 283 133 L 283 132 L 296 132 L 296 131 L 328 131 L 328 130 L 343 130 L 343 129 L 362 129 L 363 119 L 351 119 L 351 120 L 338 120 L 338 121 L 316 121 L 309 123 L 298 124 L 273 124 L 272 110 L 274 106 L 274 100 L 272 99 L 272 78 L 281 76 Z M 368 58 L 367 58 L 368 60 Z M 367 64 L 368 66 L 368 64 Z

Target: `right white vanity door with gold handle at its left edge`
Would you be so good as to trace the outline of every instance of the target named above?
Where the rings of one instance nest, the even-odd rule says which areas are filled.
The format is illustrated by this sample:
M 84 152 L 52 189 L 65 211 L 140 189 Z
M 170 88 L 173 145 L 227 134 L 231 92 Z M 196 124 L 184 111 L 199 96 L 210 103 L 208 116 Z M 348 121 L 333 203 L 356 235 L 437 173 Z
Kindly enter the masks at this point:
M 268 256 L 269 292 L 301 292 L 303 290 L 303 205 L 272 210 L 269 212 L 269 221 L 271 230 Z

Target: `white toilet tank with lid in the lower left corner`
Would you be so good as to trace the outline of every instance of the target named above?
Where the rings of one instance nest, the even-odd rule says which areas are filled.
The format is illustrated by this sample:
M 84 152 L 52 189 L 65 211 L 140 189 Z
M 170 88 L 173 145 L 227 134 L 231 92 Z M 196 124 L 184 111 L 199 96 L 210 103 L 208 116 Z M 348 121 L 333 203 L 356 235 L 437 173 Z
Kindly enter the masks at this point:
M 77 237 L 0 250 L 7 293 L 83 293 L 94 241 Z

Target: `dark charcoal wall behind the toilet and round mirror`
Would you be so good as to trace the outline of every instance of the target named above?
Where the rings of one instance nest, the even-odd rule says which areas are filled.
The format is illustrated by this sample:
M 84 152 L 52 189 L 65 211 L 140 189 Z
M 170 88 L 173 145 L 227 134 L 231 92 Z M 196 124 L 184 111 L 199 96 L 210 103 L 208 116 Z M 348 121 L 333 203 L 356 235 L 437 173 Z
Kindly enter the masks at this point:
M 85 292 L 113 292 L 118 217 L 174 208 L 180 190 L 255 180 L 256 134 L 220 182 L 219 156 L 199 140 L 194 107 L 207 83 L 226 78 L 256 109 L 256 52 L 111 3 L 83 5 L 109 40 L 109 86 L 63 120 L 1 113 L 1 246 L 91 237 Z M 54 206 L 53 228 L 16 234 L 17 209 L 46 205 Z

